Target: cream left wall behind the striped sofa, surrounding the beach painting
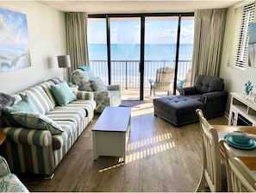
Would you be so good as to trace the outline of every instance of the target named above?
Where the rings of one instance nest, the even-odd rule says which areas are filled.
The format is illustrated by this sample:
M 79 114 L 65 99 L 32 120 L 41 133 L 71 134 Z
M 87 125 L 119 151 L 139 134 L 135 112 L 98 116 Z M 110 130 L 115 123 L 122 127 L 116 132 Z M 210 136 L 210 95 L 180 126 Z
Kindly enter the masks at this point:
M 16 93 L 48 78 L 63 77 L 57 55 L 66 54 L 65 15 L 36 2 L 0 1 L 0 8 L 26 14 L 31 67 L 0 72 L 0 92 Z

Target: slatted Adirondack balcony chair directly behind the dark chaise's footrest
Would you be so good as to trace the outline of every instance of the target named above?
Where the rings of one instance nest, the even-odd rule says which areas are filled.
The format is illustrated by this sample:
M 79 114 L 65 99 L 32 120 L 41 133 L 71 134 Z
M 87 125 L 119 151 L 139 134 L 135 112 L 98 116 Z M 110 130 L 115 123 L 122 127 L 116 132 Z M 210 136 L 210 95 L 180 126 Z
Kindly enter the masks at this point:
M 148 79 L 150 84 L 150 96 L 155 96 L 155 91 L 167 91 L 167 95 L 171 95 L 171 84 L 174 76 L 174 69 L 171 67 L 162 67 L 157 69 L 156 78 L 153 81 L 152 78 Z

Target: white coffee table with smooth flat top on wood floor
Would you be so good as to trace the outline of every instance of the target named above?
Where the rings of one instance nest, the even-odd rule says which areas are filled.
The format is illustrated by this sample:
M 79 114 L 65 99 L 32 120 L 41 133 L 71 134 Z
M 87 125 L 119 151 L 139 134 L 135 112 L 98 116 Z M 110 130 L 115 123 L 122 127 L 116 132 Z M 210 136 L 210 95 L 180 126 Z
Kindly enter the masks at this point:
M 131 108 L 106 107 L 91 129 L 93 159 L 98 156 L 122 157 L 125 161 L 131 125 Z

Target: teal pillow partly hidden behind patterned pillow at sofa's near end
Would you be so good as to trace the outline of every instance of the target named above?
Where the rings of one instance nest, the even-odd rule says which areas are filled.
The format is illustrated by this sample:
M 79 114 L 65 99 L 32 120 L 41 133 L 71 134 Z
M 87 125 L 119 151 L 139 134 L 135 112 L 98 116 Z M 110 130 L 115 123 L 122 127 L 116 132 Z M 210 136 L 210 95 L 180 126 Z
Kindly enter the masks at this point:
M 22 97 L 22 100 L 18 103 L 15 103 L 14 105 L 10 107 L 4 107 L 3 108 L 3 113 L 6 115 L 7 119 L 9 120 L 9 123 L 13 127 L 21 127 L 22 125 L 16 121 L 13 117 L 12 114 L 19 112 L 19 111 L 25 111 L 28 113 L 35 112 L 35 109 L 33 107 L 33 102 L 30 100 L 30 98 L 25 95 Z

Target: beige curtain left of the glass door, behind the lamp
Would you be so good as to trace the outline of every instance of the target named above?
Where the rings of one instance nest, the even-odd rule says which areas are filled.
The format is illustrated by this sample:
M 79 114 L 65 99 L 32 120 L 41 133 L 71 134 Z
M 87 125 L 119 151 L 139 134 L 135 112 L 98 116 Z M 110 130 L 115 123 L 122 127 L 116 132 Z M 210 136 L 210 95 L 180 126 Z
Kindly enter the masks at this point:
M 66 13 L 66 47 L 72 67 L 68 69 L 68 78 L 78 66 L 89 65 L 87 46 L 87 13 Z

